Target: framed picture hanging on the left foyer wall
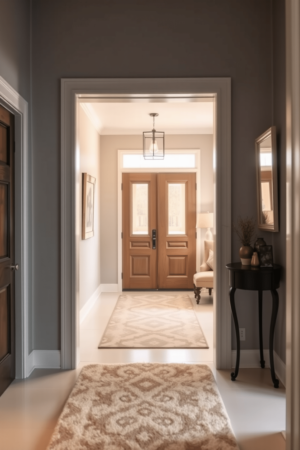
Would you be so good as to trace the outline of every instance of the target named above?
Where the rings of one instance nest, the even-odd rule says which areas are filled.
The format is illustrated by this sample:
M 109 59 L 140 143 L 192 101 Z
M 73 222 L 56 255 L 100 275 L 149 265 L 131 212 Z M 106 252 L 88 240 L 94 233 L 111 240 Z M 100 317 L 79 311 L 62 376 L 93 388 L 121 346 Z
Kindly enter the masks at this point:
M 82 174 L 82 239 L 94 236 L 94 204 L 96 178 Z

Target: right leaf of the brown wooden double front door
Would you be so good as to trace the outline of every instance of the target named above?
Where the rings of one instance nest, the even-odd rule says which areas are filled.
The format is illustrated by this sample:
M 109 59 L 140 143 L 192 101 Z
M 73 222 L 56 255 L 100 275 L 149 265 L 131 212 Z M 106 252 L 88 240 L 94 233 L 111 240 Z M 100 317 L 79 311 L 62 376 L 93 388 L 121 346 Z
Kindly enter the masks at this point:
M 196 173 L 157 174 L 158 287 L 193 289 Z

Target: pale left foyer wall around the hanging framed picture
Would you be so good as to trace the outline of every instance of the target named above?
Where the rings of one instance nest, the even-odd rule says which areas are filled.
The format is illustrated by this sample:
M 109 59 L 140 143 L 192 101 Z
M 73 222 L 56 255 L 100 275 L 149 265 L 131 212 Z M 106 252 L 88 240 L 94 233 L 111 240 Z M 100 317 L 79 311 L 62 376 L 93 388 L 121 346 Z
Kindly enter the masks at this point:
M 82 173 L 96 178 L 94 198 L 94 236 L 82 240 L 82 202 L 80 202 L 79 307 L 100 285 L 100 135 L 84 110 L 79 107 L 80 195 Z

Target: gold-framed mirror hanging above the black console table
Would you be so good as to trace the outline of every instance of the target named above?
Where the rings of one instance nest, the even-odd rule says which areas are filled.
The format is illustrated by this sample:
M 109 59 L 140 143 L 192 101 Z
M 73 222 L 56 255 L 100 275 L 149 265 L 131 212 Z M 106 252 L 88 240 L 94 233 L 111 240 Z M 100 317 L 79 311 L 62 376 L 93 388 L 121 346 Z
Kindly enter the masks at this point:
M 255 139 L 258 228 L 278 231 L 276 127 Z

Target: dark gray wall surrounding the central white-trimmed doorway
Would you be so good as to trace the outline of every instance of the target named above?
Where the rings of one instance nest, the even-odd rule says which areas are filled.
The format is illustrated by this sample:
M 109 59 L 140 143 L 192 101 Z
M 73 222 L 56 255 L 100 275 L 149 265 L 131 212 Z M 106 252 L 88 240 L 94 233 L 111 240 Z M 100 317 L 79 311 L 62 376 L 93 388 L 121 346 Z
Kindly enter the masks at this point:
M 60 348 L 60 78 L 230 76 L 232 218 L 255 217 L 254 140 L 272 124 L 272 19 L 271 0 L 33 0 L 35 348 Z M 233 261 L 238 248 L 233 235 Z M 244 348 L 258 348 L 256 296 L 237 304 Z

